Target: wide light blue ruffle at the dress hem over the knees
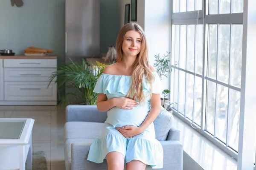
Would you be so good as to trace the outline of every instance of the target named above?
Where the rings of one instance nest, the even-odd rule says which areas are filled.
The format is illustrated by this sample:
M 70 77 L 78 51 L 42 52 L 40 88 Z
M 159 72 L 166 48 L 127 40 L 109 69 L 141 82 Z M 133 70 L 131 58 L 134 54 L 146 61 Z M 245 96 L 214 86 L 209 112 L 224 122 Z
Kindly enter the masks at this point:
M 132 160 L 142 161 L 153 169 L 163 168 L 163 147 L 156 139 L 128 138 L 108 134 L 97 138 L 90 146 L 87 160 L 102 163 L 110 152 L 120 152 L 125 157 L 125 164 Z

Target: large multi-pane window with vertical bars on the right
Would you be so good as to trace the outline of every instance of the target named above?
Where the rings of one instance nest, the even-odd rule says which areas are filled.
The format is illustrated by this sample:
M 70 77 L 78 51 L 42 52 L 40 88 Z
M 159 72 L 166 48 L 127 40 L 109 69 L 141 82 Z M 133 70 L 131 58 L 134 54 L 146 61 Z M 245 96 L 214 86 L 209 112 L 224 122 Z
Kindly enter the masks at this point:
M 237 159 L 243 0 L 173 0 L 174 113 Z

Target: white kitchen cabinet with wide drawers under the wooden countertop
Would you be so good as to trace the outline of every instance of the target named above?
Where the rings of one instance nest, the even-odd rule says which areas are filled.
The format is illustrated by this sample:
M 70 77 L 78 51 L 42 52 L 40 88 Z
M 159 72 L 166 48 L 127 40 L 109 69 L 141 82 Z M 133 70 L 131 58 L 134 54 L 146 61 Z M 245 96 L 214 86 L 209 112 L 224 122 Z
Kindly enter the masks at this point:
M 0 105 L 57 104 L 57 85 L 51 82 L 48 87 L 57 57 L 6 56 L 0 65 Z

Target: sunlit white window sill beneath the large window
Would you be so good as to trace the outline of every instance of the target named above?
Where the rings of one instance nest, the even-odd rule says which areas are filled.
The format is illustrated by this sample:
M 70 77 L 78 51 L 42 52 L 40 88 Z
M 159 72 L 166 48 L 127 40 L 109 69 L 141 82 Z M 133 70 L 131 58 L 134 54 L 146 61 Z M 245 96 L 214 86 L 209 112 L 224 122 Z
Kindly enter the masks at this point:
M 236 170 L 237 161 L 173 114 L 183 144 L 183 170 Z M 191 159 L 191 160 L 189 160 Z M 194 161 L 196 167 L 192 167 Z M 189 169 L 187 168 L 189 167 Z

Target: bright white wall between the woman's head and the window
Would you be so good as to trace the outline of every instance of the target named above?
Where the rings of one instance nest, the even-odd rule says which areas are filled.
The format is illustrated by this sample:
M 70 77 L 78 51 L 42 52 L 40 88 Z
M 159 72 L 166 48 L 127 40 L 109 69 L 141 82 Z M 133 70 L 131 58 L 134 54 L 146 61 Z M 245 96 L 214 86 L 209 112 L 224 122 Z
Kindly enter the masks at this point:
M 152 3 L 145 0 L 145 34 L 148 42 L 148 57 L 154 64 L 154 55 L 171 51 L 170 0 Z M 170 88 L 169 79 L 163 79 L 163 88 Z

